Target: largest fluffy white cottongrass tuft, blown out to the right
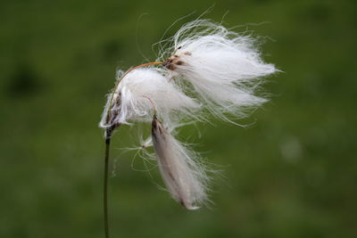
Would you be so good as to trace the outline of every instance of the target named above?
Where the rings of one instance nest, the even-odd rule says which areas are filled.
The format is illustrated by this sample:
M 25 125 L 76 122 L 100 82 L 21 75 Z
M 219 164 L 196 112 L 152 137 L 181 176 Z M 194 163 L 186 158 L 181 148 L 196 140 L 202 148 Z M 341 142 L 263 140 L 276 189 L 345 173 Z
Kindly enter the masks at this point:
M 264 63 L 253 37 L 241 36 L 207 20 L 184 25 L 170 39 L 167 68 L 172 76 L 187 79 L 209 111 L 220 119 L 245 118 L 267 99 L 259 97 L 263 80 L 278 70 Z M 173 52 L 173 53 L 172 53 Z M 194 92 L 194 93 L 195 93 Z

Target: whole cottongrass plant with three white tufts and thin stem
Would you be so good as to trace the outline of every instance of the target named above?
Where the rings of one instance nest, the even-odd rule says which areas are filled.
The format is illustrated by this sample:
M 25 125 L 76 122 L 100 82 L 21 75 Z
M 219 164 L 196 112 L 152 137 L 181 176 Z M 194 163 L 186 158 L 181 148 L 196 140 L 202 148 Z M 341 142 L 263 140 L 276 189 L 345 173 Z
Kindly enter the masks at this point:
M 198 209 L 209 201 L 209 171 L 199 155 L 175 138 L 187 121 L 207 119 L 204 111 L 232 121 L 249 115 L 267 99 L 257 95 L 263 77 L 277 72 L 262 61 L 253 37 L 208 20 L 192 21 L 162 42 L 157 62 L 117 73 L 100 127 L 104 128 L 104 230 L 109 237 L 107 180 L 112 132 L 120 125 L 152 122 L 151 138 L 163 183 L 175 201 Z

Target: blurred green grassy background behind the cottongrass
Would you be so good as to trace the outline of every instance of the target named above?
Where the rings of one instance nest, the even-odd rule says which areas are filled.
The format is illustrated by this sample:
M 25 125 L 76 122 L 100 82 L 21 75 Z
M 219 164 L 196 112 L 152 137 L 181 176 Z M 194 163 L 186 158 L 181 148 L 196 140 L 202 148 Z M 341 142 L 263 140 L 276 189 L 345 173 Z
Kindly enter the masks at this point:
M 172 22 L 195 11 L 167 36 L 213 3 L 2 1 L 0 237 L 104 237 L 97 123 L 115 70 L 145 62 L 140 51 L 154 60 Z M 157 169 L 136 171 L 143 160 L 120 148 L 137 129 L 120 128 L 112 237 L 356 237 L 356 3 L 217 2 L 204 18 L 228 12 L 225 26 L 264 37 L 264 59 L 284 71 L 266 86 L 272 100 L 239 121 L 253 127 L 182 131 L 224 170 L 212 209 L 187 211 L 157 188 Z

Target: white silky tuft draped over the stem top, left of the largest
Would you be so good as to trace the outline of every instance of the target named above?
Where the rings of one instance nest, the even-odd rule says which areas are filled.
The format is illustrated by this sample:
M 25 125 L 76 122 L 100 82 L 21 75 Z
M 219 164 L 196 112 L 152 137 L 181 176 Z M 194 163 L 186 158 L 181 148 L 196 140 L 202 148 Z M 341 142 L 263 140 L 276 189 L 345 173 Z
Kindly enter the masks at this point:
M 121 75 L 122 71 L 117 78 Z M 100 127 L 151 121 L 154 111 L 166 121 L 195 118 L 194 111 L 199 108 L 200 104 L 165 78 L 161 69 L 137 69 L 121 78 L 115 92 L 108 95 Z

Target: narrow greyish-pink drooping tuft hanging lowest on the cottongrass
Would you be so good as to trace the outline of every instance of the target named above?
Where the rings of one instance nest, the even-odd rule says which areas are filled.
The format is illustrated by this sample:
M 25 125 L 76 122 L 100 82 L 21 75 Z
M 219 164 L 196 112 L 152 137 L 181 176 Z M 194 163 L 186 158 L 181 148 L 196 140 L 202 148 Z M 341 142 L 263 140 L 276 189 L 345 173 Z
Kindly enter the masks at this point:
M 154 151 L 168 191 L 186 209 L 199 209 L 208 201 L 209 178 L 198 155 L 170 135 L 156 117 L 152 126 Z

